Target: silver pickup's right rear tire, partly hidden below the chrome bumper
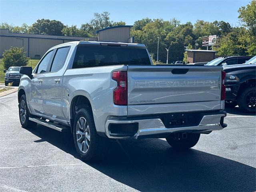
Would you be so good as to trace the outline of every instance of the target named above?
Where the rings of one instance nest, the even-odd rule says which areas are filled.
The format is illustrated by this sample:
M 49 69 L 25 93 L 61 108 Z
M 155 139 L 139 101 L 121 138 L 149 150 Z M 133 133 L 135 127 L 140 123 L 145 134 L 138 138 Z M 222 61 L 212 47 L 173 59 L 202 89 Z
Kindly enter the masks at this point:
M 182 138 L 181 133 L 172 134 L 166 138 L 166 141 L 172 148 L 175 149 L 188 149 L 194 147 L 200 138 L 200 134 L 187 133 L 186 138 Z

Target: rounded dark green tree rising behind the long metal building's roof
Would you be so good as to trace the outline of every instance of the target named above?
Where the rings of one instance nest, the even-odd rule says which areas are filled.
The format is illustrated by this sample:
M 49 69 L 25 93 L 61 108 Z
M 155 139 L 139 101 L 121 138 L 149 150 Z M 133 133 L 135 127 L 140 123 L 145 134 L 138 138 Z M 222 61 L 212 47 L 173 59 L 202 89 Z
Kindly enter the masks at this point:
M 32 34 L 62 35 L 64 24 L 57 20 L 38 19 L 29 29 Z

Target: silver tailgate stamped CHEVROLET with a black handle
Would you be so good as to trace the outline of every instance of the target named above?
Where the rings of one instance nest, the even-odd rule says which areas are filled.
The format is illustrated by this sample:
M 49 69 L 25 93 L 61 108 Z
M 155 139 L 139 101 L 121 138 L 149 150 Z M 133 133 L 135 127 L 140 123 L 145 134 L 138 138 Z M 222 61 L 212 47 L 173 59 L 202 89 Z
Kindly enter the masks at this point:
M 220 109 L 221 66 L 128 66 L 128 116 Z

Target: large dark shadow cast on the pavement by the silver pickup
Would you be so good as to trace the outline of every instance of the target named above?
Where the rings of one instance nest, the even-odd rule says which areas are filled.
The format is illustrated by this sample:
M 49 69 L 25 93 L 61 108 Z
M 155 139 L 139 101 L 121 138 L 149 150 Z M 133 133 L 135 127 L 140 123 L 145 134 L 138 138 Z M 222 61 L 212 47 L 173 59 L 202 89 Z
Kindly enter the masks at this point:
M 76 155 L 71 133 L 37 126 L 30 132 Z M 140 191 L 255 191 L 256 169 L 199 150 L 176 151 L 160 139 L 108 142 L 104 160 L 87 163 Z M 85 162 L 86 163 L 86 162 Z

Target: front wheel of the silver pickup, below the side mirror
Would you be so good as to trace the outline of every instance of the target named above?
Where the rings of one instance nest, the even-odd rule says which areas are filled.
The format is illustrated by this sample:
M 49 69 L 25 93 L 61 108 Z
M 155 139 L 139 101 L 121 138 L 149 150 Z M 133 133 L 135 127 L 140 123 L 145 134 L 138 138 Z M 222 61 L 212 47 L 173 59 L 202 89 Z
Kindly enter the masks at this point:
M 30 121 L 30 113 L 28 111 L 28 105 L 26 102 L 26 96 L 22 95 L 19 100 L 19 118 L 20 124 L 23 128 L 33 128 L 37 125 L 36 122 Z M 24 118 L 24 119 L 23 119 Z

